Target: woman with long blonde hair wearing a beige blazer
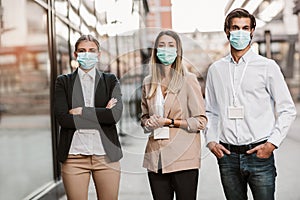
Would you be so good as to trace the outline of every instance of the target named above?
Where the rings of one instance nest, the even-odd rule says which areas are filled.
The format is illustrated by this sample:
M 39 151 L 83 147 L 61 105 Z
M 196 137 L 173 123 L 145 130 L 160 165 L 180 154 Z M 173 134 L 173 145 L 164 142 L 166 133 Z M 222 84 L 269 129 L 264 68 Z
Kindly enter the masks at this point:
M 207 123 L 196 76 L 182 65 L 182 44 L 173 31 L 155 40 L 151 73 L 142 87 L 141 125 L 149 139 L 143 166 L 154 199 L 197 197 L 201 137 Z

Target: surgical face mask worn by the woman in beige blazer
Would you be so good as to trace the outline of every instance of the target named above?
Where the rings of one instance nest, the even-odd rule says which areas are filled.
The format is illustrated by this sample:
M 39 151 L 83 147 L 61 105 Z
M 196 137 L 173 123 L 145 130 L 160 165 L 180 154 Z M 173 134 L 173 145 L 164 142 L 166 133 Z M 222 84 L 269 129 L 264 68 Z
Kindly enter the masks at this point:
M 177 57 L 177 49 L 175 47 L 157 48 L 156 56 L 164 65 L 171 65 Z

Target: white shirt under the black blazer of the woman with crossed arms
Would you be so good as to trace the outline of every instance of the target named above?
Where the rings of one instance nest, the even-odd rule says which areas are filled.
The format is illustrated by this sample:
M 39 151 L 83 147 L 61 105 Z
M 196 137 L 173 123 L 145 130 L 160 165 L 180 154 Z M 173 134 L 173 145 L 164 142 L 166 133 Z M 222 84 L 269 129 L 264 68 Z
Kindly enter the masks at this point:
M 85 73 L 82 69 L 78 68 L 78 75 L 81 82 L 85 106 L 94 107 L 96 69 L 93 68 L 88 73 Z M 96 129 L 76 130 L 69 154 L 105 155 L 100 132 Z

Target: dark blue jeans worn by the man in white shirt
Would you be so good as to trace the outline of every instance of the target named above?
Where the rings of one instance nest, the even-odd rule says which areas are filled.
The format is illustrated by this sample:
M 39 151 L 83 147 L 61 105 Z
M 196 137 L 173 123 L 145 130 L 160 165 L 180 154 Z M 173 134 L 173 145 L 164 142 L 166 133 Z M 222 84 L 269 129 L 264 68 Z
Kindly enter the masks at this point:
M 262 159 L 255 153 L 231 152 L 218 159 L 218 163 L 227 200 L 248 199 L 248 184 L 255 200 L 274 200 L 276 168 L 273 154 Z

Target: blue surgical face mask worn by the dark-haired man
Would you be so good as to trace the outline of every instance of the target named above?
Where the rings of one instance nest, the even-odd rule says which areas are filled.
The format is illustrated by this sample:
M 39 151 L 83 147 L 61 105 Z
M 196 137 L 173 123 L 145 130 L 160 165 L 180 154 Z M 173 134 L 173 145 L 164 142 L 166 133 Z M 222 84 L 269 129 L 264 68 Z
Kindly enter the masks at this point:
M 229 41 L 231 46 L 236 50 L 243 50 L 251 41 L 250 32 L 244 30 L 231 31 Z

